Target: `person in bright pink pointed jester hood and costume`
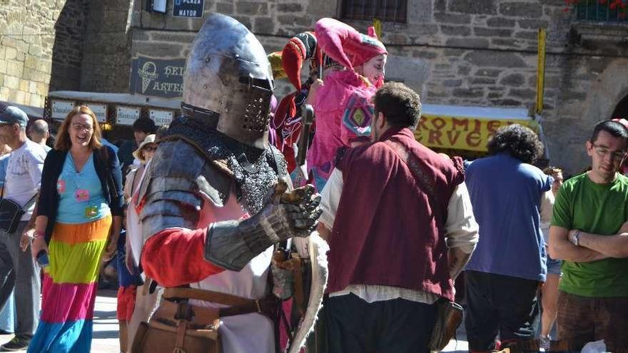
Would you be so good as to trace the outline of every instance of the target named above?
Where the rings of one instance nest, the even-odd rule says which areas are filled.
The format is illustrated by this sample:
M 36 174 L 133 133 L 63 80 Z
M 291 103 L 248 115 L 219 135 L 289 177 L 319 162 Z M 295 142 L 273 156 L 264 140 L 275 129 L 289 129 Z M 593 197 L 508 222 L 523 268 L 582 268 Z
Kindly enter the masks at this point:
M 315 26 L 320 50 L 345 68 L 325 76 L 315 93 L 316 132 L 307 165 L 319 191 L 330 177 L 338 148 L 370 141 L 371 98 L 384 83 L 388 51 L 373 28 L 369 34 L 335 19 L 320 19 Z

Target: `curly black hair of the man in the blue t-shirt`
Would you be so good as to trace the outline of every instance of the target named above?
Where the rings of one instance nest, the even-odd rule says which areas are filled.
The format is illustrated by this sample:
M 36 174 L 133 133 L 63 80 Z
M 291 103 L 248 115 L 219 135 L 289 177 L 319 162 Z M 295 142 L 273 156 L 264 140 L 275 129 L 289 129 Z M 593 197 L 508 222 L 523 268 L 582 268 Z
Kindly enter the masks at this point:
M 543 143 L 537 134 L 519 124 L 498 128 L 495 135 L 488 141 L 488 153 L 507 152 L 523 163 L 534 164 L 543 154 Z

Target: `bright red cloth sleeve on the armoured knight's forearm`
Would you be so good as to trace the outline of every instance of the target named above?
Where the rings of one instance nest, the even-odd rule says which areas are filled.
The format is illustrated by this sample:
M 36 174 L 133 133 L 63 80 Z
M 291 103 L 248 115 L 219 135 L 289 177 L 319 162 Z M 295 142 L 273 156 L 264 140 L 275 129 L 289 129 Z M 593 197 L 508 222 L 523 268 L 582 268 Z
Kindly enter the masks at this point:
M 146 275 L 164 287 L 176 287 L 223 272 L 222 267 L 205 260 L 206 231 L 167 229 L 153 235 L 142 250 Z

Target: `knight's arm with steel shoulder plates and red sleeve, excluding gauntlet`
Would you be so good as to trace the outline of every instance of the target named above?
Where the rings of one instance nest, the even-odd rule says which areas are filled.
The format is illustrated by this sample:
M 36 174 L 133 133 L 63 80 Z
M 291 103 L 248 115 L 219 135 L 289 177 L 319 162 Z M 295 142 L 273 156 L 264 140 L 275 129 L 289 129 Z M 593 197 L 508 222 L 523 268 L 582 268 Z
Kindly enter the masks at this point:
M 146 274 L 162 285 L 198 282 L 223 269 L 204 260 L 204 199 L 221 207 L 231 177 L 181 140 L 161 143 L 138 195 Z M 194 264 L 194 265 L 191 265 Z

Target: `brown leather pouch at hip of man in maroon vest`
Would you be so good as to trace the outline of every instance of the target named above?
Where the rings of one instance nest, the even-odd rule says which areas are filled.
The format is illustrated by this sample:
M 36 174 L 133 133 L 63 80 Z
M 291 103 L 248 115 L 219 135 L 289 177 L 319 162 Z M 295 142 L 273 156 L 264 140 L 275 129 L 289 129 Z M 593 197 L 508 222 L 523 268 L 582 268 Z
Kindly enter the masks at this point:
M 441 351 L 455 336 L 456 329 L 462 322 L 462 307 L 444 299 L 438 300 L 435 305 L 437 314 L 430 339 L 430 350 Z

